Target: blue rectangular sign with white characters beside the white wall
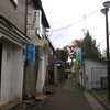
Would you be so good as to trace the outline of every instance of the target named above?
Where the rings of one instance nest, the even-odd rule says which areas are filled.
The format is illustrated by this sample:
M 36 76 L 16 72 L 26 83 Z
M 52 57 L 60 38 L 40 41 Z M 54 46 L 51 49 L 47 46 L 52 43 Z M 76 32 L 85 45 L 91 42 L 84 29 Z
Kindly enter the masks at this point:
M 25 61 L 34 61 L 34 59 L 35 59 L 35 45 L 26 44 Z

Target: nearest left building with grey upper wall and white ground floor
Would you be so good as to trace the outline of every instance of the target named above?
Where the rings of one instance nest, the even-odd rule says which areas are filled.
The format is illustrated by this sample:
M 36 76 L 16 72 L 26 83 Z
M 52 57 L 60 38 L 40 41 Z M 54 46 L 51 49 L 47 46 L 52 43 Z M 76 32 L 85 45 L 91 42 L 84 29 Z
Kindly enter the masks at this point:
M 22 101 L 25 33 L 25 1 L 0 1 L 0 106 Z

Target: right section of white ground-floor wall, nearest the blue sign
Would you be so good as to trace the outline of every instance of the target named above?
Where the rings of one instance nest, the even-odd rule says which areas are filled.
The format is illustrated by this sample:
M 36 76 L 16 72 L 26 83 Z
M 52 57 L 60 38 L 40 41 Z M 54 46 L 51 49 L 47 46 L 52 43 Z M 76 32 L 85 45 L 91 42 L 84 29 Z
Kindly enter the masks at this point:
M 11 100 L 22 100 L 23 86 L 23 52 L 21 47 L 13 47 L 13 64 L 11 79 Z

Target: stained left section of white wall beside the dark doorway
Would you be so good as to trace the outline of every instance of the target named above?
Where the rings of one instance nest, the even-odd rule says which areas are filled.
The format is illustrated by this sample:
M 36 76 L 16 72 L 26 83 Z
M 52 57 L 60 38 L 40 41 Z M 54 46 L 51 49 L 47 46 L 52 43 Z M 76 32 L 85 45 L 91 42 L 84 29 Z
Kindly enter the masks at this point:
M 11 74 L 12 74 L 12 45 L 3 42 L 1 63 L 1 101 L 0 105 L 10 100 Z

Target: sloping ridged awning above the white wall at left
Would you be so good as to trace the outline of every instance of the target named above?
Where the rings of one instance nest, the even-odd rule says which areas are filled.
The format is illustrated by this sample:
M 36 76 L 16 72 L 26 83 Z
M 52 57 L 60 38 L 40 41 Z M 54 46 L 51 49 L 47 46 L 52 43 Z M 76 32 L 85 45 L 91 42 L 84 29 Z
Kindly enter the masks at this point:
M 21 47 L 30 42 L 30 38 L 6 18 L 0 15 L 0 40 L 6 40 Z

